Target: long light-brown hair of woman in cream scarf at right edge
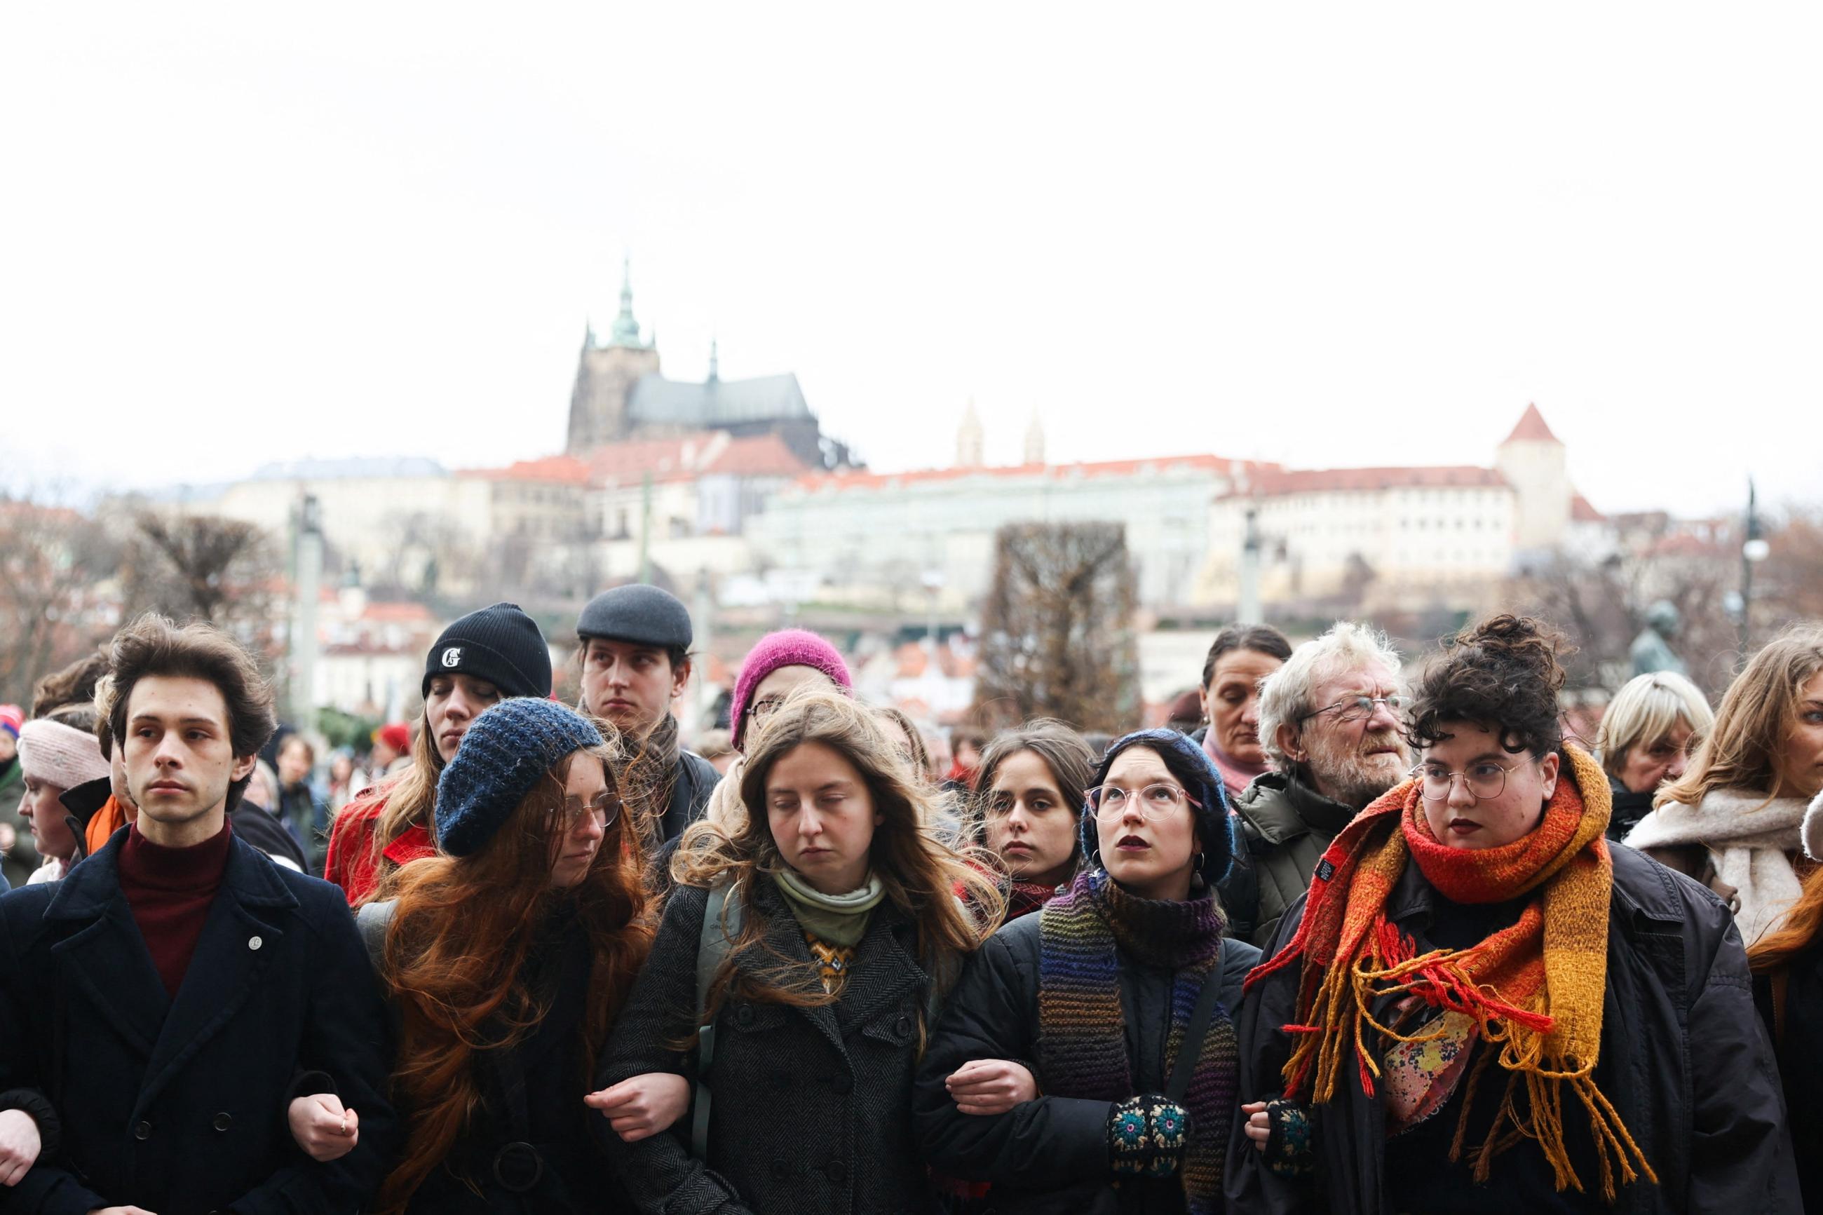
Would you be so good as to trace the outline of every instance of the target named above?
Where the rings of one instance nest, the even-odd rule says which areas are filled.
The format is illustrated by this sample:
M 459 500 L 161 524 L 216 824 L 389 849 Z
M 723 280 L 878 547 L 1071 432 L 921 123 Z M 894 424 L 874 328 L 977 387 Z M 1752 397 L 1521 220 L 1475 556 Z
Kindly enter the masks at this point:
M 1797 721 L 1797 696 L 1823 670 L 1823 628 L 1794 625 L 1768 641 L 1734 678 L 1715 710 L 1715 727 L 1681 780 L 1659 791 L 1657 805 L 1697 805 L 1712 789 L 1779 796 L 1779 750 Z

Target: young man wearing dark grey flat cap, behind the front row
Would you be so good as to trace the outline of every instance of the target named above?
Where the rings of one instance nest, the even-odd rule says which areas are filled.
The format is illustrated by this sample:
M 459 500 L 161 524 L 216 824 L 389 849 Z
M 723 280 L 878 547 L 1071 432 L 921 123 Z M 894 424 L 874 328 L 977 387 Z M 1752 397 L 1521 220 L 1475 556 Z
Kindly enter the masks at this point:
M 633 741 L 642 756 L 629 783 L 645 783 L 654 807 L 654 847 L 702 818 L 722 774 L 678 741 L 673 701 L 689 687 L 689 610 L 676 596 L 645 583 L 603 590 L 576 618 L 582 645 L 582 705 Z M 656 763 L 647 763 L 649 756 Z

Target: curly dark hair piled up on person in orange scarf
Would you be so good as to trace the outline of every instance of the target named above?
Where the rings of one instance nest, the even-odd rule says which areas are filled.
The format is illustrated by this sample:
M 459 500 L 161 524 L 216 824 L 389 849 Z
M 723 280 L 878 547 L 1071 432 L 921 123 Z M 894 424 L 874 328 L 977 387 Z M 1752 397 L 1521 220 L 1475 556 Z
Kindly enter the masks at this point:
M 1560 632 L 1529 616 L 1493 616 L 1458 632 L 1418 678 L 1406 736 L 1424 749 L 1466 721 L 1497 732 L 1509 754 L 1542 760 L 1562 750 L 1557 692 L 1564 669 L 1557 659 L 1570 650 Z

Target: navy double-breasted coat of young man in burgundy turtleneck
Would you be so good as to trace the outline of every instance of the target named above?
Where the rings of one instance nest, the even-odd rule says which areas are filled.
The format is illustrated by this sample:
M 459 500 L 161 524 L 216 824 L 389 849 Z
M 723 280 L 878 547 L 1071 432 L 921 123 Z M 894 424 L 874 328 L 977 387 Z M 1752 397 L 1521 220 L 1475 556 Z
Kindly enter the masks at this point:
M 171 1000 L 120 891 L 124 832 L 58 885 L 0 896 L 0 1089 L 49 1097 L 62 1142 L 0 1210 L 355 1211 L 397 1148 L 385 1007 L 335 887 L 233 840 Z M 335 1078 L 361 1140 L 317 1164 L 294 1080 Z

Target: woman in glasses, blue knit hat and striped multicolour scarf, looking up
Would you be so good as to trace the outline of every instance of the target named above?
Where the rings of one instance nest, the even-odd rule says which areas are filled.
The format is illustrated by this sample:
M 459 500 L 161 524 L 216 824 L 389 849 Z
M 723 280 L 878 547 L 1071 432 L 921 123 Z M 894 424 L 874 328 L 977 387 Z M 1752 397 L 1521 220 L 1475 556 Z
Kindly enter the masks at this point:
M 1214 896 L 1221 778 L 1183 734 L 1139 730 L 1090 780 L 1087 863 L 970 960 L 919 1067 L 919 1137 L 995 1211 L 1220 1211 L 1231 1009 L 1260 958 Z

